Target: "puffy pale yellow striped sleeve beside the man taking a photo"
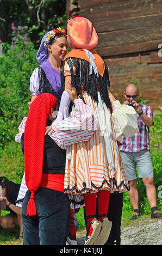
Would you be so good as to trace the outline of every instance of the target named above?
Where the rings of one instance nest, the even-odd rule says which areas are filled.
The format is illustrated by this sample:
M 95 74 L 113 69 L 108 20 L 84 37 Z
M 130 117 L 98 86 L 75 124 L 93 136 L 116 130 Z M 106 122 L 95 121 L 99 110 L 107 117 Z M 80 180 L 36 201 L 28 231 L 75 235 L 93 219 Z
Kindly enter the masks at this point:
M 121 105 L 119 100 L 113 102 L 112 108 L 112 119 L 117 141 L 121 141 L 122 136 L 132 137 L 135 135 L 139 131 L 135 109 L 128 105 Z

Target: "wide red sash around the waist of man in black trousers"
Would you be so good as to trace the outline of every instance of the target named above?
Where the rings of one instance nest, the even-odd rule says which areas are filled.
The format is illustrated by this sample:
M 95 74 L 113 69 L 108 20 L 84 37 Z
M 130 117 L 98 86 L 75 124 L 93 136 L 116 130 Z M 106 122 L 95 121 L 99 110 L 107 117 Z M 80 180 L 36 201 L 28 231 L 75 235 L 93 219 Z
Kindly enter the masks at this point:
M 47 187 L 52 190 L 63 192 L 64 176 L 64 174 L 42 174 L 40 187 Z

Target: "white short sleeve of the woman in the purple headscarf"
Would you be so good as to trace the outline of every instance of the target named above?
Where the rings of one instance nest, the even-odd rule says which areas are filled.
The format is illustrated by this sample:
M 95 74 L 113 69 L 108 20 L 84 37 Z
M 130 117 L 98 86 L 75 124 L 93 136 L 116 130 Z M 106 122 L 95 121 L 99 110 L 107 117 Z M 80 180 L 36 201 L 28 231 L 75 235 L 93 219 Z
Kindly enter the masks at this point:
M 29 90 L 32 95 L 39 95 L 39 68 L 34 69 L 32 76 L 30 76 Z

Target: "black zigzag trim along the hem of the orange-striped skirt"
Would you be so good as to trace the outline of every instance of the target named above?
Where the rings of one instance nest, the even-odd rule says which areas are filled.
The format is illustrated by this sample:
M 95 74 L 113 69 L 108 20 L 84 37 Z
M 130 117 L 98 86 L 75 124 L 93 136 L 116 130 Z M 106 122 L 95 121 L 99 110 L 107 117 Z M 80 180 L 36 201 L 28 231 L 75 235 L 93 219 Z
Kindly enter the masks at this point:
M 116 179 L 115 179 L 115 178 L 110 179 L 110 183 L 109 183 L 107 180 L 103 180 L 101 186 L 95 186 L 92 182 L 91 182 L 91 185 L 92 185 L 92 187 L 96 188 L 97 190 L 101 190 L 101 188 L 103 187 L 103 185 L 104 185 L 105 183 L 107 183 L 107 185 L 108 185 L 109 187 L 111 187 L 111 183 L 113 183 L 113 188 L 115 187 L 115 189 L 117 189 L 117 190 L 119 190 L 119 188 L 120 188 L 122 185 L 123 185 L 124 187 L 126 187 L 127 191 L 130 190 L 129 185 L 127 186 L 127 184 L 125 184 L 123 180 L 122 180 L 122 182 L 120 183 L 120 185 L 117 186 L 117 183 L 116 183 Z M 93 191 L 92 188 L 86 187 L 86 183 L 85 183 L 85 182 L 83 182 L 82 185 L 83 185 L 82 190 L 77 190 L 77 185 L 73 186 L 72 188 L 70 188 L 70 186 L 68 185 L 68 187 L 64 189 L 64 192 L 71 192 L 71 191 L 76 190 L 77 193 L 82 193 L 82 192 L 84 192 L 84 191 L 86 191 L 86 193 L 91 193 L 91 192 Z

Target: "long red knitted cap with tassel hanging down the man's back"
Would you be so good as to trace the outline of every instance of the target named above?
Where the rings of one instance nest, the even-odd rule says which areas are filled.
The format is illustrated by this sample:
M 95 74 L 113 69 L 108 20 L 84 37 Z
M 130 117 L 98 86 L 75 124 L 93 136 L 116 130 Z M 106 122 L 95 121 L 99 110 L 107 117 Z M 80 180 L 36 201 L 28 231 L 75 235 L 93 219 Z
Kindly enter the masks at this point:
M 24 130 L 24 169 L 26 185 L 31 192 L 27 205 L 27 215 L 36 215 L 34 192 L 38 190 L 42 179 L 43 150 L 46 122 L 56 99 L 52 94 L 43 93 L 30 105 Z

